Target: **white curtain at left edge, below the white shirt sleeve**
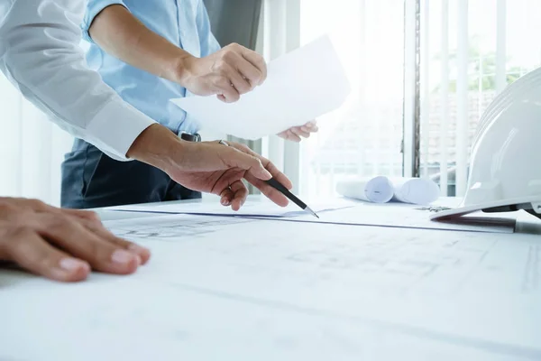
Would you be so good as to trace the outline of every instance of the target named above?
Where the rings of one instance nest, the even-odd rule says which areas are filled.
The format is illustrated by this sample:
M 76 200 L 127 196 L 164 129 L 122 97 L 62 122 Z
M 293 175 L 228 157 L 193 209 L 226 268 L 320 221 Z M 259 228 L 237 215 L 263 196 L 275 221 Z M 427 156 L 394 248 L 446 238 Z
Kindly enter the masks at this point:
M 60 163 L 72 143 L 0 77 L 0 196 L 41 199 L 60 204 Z

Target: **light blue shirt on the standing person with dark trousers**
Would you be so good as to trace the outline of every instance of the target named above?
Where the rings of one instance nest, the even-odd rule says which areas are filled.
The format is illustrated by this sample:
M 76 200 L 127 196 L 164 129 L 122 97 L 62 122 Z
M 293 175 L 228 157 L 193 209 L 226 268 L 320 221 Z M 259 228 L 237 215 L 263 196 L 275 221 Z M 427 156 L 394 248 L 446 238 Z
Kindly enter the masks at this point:
M 88 0 L 82 24 L 84 37 L 90 43 L 87 64 L 123 99 L 175 133 L 196 133 L 199 126 L 186 112 L 170 102 L 171 98 L 188 97 L 186 88 L 161 79 L 144 70 L 108 55 L 88 34 L 97 14 L 109 5 L 124 5 L 151 31 L 198 58 L 220 50 L 210 30 L 203 0 Z

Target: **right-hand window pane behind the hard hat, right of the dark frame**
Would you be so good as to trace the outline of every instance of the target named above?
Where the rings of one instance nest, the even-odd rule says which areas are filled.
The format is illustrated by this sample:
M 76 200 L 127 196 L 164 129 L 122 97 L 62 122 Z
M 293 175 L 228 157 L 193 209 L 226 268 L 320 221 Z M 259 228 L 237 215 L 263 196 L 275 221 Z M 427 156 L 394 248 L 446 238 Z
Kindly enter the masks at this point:
M 541 31 L 541 3 L 423 0 L 421 16 L 421 174 L 440 181 L 444 194 L 462 196 L 482 113 L 541 64 L 541 44 L 528 40 Z

